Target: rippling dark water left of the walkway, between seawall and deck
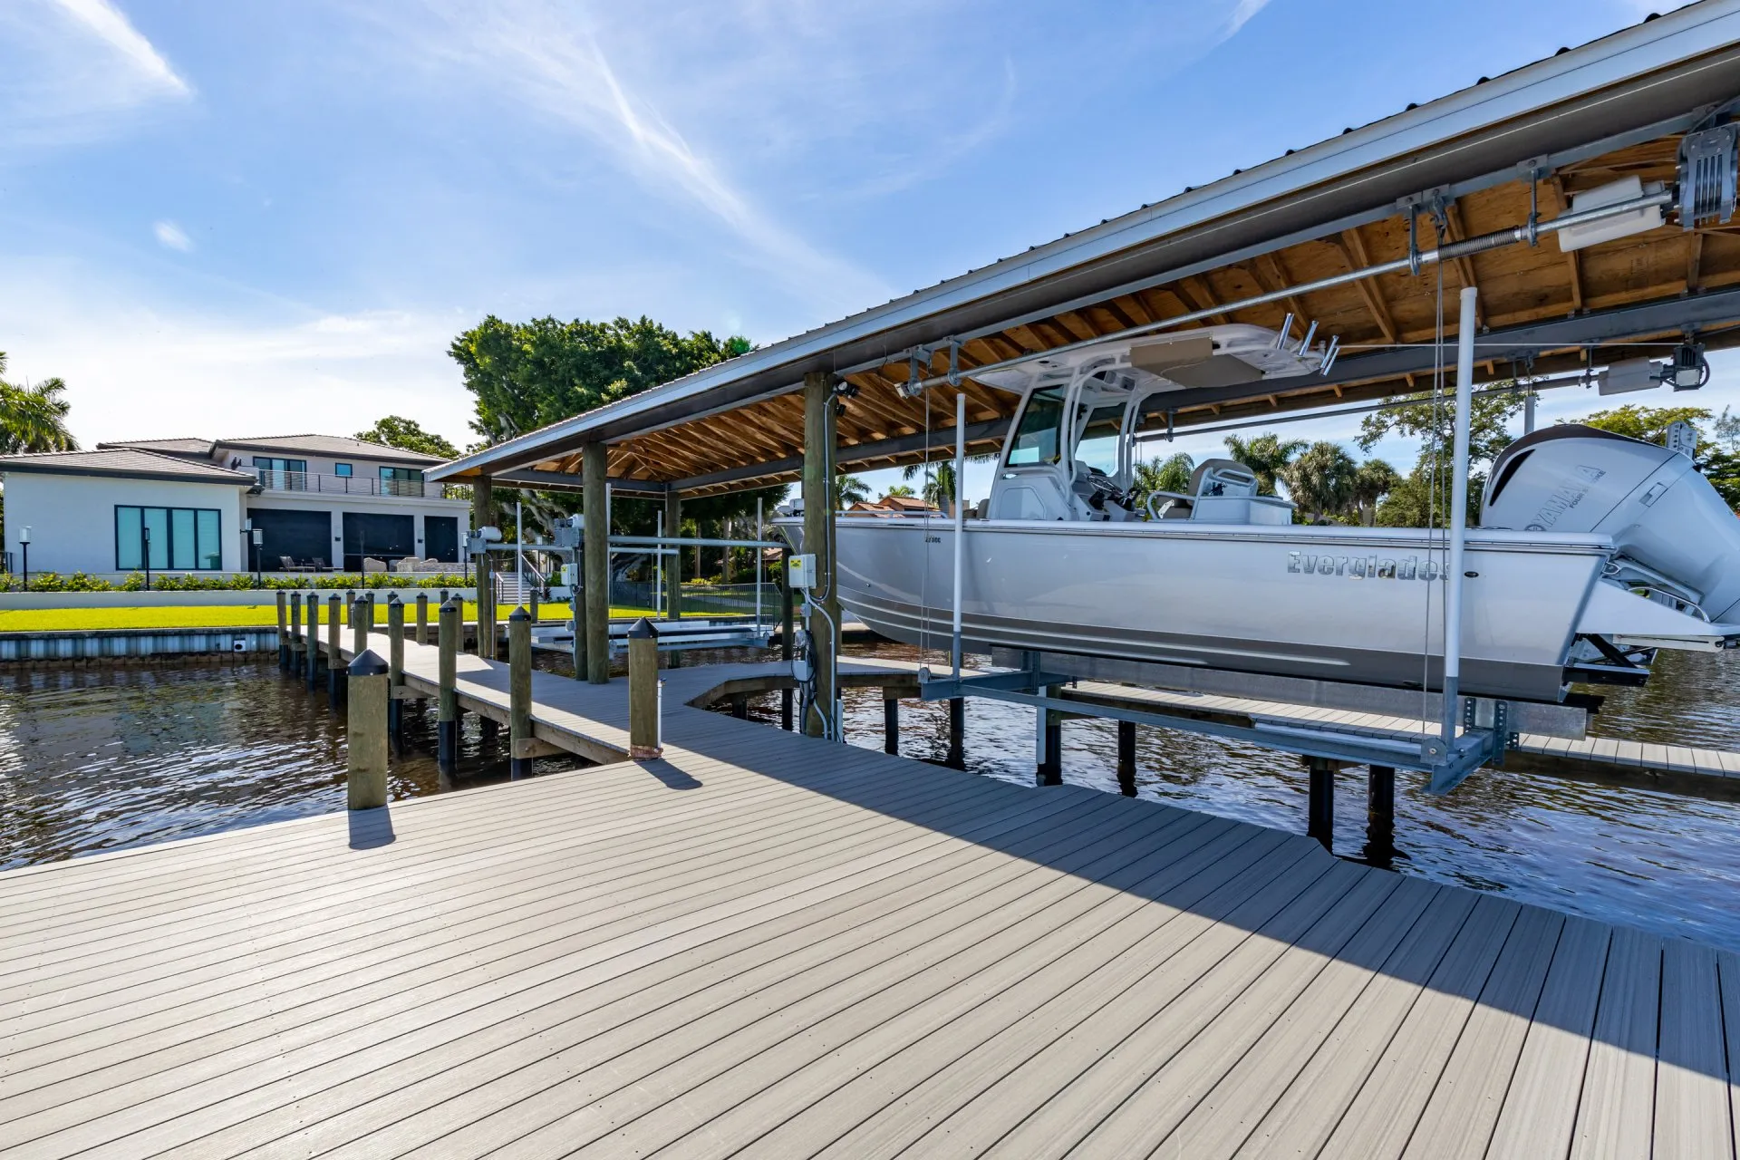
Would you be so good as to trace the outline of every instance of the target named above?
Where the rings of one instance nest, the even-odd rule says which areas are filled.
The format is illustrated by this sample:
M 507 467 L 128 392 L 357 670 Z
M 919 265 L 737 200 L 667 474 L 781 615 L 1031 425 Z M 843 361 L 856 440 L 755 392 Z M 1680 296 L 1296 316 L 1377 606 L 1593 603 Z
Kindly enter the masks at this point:
M 310 696 L 273 661 L 0 668 L 0 868 L 341 810 L 343 746 L 324 687 Z M 485 743 L 466 715 L 451 784 L 506 774 L 506 729 Z M 451 784 L 433 708 L 407 708 L 393 800 Z

